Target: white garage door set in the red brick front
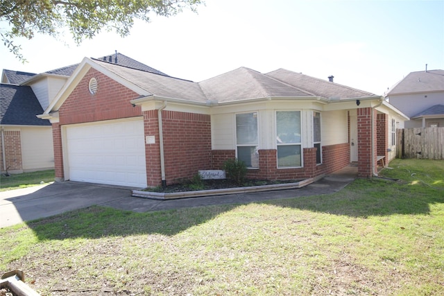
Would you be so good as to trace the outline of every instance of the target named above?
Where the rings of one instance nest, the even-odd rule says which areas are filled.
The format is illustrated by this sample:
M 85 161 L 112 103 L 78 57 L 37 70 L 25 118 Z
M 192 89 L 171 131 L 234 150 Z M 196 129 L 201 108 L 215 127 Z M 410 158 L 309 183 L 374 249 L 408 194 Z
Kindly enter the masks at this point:
M 69 180 L 146 187 L 144 122 L 67 127 Z

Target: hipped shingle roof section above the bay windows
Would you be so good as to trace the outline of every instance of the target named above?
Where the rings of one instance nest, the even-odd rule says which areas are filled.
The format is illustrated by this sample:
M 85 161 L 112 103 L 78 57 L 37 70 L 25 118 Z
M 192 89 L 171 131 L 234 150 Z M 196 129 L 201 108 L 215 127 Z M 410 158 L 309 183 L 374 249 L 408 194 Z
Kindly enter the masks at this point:
M 209 100 L 219 102 L 268 97 L 314 96 L 246 67 L 203 80 L 199 82 L 199 85 Z

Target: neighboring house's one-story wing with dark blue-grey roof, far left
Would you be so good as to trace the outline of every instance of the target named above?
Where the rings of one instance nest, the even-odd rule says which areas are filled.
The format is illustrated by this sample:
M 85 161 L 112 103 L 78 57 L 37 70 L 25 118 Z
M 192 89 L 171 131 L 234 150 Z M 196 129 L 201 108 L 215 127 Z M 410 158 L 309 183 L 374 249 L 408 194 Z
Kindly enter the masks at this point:
M 0 85 L 1 172 L 23 173 L 54 167 L 51 123 L 31 87 Z

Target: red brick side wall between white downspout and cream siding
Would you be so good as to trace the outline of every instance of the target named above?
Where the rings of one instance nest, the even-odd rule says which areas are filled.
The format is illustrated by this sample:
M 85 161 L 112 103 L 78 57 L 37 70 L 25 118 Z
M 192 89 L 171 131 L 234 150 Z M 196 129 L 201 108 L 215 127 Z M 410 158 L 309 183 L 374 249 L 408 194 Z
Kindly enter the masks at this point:
M 162 111 L 167 184 L 212 168 L 208 114 Z

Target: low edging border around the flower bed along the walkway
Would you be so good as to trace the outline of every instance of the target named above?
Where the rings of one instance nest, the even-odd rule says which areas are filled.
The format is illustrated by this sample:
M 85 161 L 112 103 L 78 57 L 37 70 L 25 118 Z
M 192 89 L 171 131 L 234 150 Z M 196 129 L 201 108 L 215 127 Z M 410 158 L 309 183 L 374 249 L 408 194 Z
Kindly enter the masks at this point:
M 210 190 L 185 191 L 185 192 L 173 192 L 173 193 L 160 193 L 160 192 L 142 191 L 140 189 L 135 189 L 131 191 L 131 196 L 134 196 L 136 198 L 148 198 L 151 200 L 177 200 L 180 198 L 199 198 L 203 196 L 214 196 L 214 195 L 253 193 L 261 191 L 284 190 L 284 189 L 299 189 L 313 182 L 321 180 L 323 177 L 325 177 L 325 175 L 312 177 L 309 179 L 301 180 L 299 182 L 285 183 L 285 184 L 246 186 L 246 187 L 235 187 L 235 188 L 226 188 L 226 189 L 210 189 Z

